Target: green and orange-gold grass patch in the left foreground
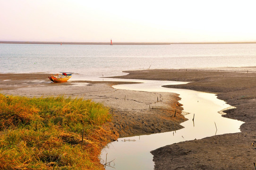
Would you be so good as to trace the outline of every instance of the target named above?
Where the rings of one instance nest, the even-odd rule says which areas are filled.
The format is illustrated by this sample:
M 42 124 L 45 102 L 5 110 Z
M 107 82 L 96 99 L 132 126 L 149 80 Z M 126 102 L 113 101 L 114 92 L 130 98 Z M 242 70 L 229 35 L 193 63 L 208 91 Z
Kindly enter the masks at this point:
M 0 169 L 101 170 L 98 155 L 112 135 L 102 125 L 110 119 L 90 100 L 0 94 Z

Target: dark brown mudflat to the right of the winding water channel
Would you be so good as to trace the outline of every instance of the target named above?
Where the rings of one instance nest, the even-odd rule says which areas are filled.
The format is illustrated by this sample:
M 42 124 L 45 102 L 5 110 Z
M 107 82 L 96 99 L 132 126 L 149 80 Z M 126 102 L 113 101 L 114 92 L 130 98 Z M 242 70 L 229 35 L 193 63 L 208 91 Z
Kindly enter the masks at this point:
M 256 162 L 256 74 L 205 70 L 129 71 L 122 78 L 193 81 L 186 85 L 166 85 L 217 93 L 219 99 L 237 109 L 224 117 L 245 123 L 241 133 L 225 134 L 171 144 L 152 151 L 155 170 L 255 170 Z M 236 72 L 235 72 L 236 71 Z M 156 76 L 157 75 L 157 76 Z

